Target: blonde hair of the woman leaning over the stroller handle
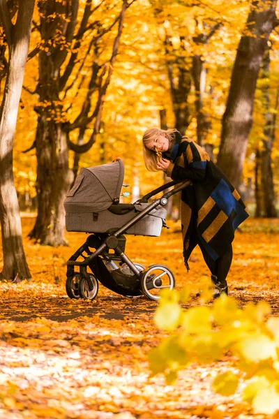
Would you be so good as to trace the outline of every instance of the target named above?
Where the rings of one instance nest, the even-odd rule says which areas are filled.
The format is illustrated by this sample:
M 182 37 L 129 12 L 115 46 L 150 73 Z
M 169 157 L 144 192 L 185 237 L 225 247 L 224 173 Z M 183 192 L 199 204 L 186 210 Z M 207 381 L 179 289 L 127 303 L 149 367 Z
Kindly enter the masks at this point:
M 148 149 L 146 144 L 156 138 L 163 135 L 167 140 L 169 140 L 169 145 L 172 145 L 175 140 L 174 132 L 177 131 L 176 128 L 173 129 L 160 129 L 160 128 L 149 128 L 145 131 L 142 137 L 142 145 L 143 145 L 143 154 L 144 154 L 144 164 L 147 170 L 150 172 L 158 172 L 157 169 L 157 161 L 158 155 L 155 151 Z

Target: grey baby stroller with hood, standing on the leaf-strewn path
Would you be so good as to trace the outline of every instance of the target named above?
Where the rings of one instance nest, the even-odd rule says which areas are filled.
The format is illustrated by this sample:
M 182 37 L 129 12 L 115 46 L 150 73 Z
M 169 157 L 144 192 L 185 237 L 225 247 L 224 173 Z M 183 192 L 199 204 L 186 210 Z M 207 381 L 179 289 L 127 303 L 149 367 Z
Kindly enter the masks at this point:
M 151 300 L 160 298 L 161 289 L 175 286 L 174 274 L 168 267 L 144 267 L 126 256 L 125 235 L 159 237 L 162 227 L 166 227 L 164 207 L 169 196 L 190 182 L 172 181 L 133 204 L 123 204 L 119 203 L 123 177 L 120 159 L 82 168 L 64 201 L 66 230 L 91 233 L 67 261 L 66 292 L 70 298 L 93 300 L 98 293 L 98 281 L 120 295 L 144 294 Z M 149 198 L 176 184 L 179 185 L 148 203 Z M 83 260 L 77 260 L 80 256 Z M 75 272 L 75 266 L 80 267 L 79 272 Z M 87 267 L 91 272 L 87 272 Z

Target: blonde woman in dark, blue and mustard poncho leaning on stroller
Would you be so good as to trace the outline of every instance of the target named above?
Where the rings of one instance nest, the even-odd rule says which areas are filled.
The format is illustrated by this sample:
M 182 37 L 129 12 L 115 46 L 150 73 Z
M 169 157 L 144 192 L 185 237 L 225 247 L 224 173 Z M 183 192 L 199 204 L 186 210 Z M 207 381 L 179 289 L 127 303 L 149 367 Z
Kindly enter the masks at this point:
M 175 129 L 148 129 L 142 138 L 148 170 L 162 170 L 174 180 L 190 179 L 181 193 L 183 256 L 199 245 L 214 284 L 213 297 L 228 294 L 227 274 L 232 263 L 234 230 L 248 217 L 246 207 L 209 155 Z

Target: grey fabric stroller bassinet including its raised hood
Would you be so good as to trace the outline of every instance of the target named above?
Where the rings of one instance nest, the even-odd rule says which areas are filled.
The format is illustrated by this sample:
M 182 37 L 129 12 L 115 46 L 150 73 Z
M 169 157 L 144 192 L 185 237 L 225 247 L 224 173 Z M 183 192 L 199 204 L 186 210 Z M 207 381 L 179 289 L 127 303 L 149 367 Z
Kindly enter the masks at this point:
M 121 160 L 93 168 L 82 168 L 64 207 L 66 230 L 84 233 L 110 233 L 117 226 L 135 217 L 149 204 L 120 204 L 119 196 L 124 178 Z M 167 210 L 156 207 L 125 233 L 132 235 L 160 236 Z

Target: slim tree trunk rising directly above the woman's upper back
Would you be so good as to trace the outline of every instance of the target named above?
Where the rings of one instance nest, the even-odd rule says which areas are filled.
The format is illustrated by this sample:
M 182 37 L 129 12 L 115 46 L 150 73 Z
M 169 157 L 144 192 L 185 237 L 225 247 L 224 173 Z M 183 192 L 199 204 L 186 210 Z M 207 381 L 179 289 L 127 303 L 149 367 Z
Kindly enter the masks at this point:
M 195 108 L 197 114 L 197 143 L 204 145 L 204 140 L 209 133 L 211 123 L 204 113 L 204 92 L 206 87 L 206 68 L 200 55 L 193 57 L 193 79 L 195 84 Z

